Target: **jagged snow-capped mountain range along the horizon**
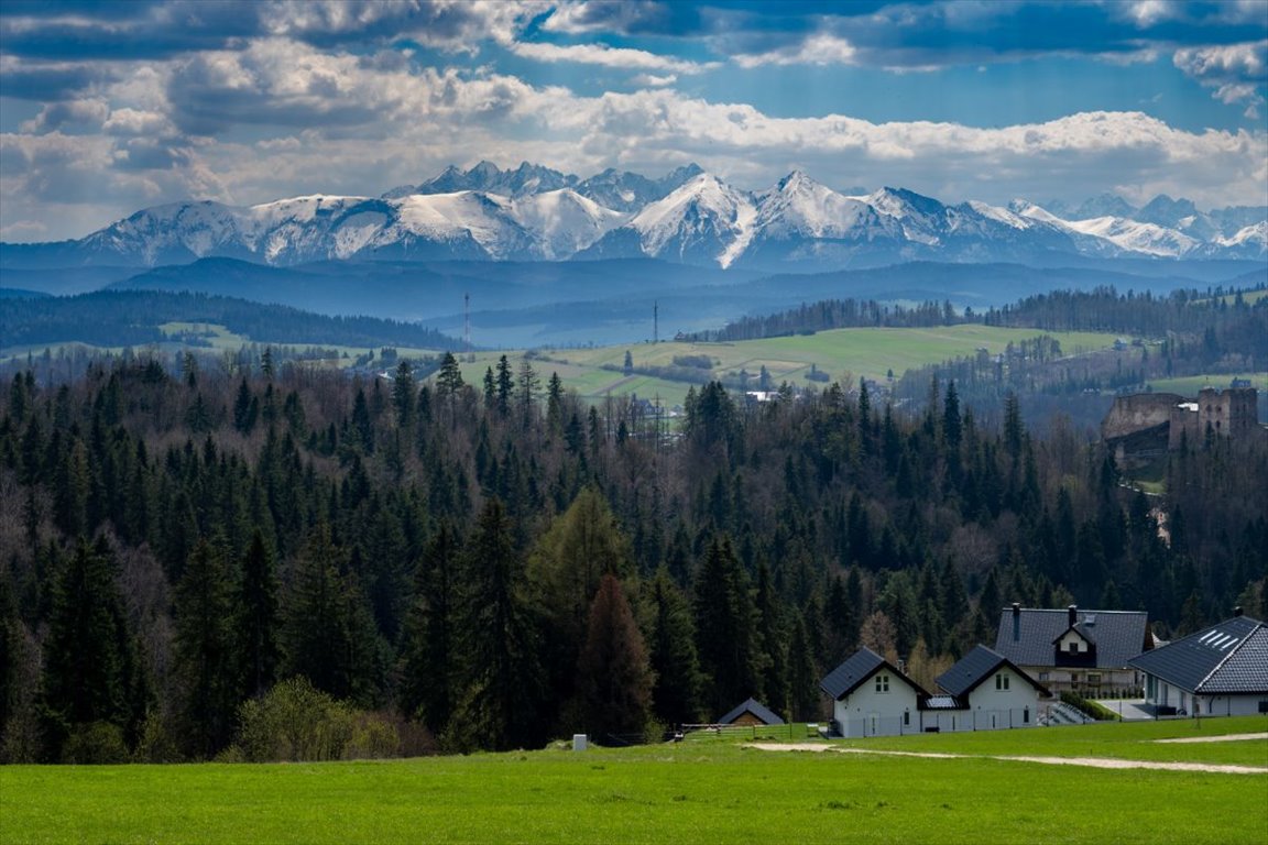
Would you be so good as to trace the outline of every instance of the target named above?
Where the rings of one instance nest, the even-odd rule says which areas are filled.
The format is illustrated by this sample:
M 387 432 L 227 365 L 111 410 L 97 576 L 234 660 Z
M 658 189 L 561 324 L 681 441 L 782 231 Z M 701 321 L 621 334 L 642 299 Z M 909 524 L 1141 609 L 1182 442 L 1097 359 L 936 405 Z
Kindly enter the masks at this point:
M 382 196 L 212 201 L 137 212 L 80 241 L 4 245 L 8 266 L 156 266 L 208 256 L 311 261 L 563 261 L 656 257 L 715 267 L 824 270 L 899 261 L 1268 257 L 1268 208 L 1202 213 L 1159 196 L 1079 208 L 1014 200 L 955 205 L 908 190 L 834 191 L 794 171 L 738 190 L 691 165 L 662 179 L 607 170 L 578 179 L 525 162 L 456 167 Z

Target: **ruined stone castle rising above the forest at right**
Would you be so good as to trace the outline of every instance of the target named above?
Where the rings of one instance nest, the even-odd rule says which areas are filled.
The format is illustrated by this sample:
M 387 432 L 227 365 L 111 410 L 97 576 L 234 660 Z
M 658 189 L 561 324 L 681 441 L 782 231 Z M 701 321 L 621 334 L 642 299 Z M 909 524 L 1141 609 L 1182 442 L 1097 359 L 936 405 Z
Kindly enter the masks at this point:
M 1207 433 L 1238 440 L 1264 433 L 1259 426 L 1259 394 L 1254 388 L 1202 388 L 1197 399 L 1175 393 L 1117 397 L 1101 423 L 1101 437 L 1123 455 L 1178 448 Z

